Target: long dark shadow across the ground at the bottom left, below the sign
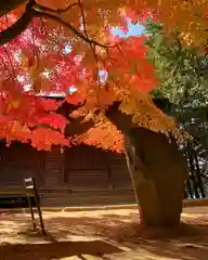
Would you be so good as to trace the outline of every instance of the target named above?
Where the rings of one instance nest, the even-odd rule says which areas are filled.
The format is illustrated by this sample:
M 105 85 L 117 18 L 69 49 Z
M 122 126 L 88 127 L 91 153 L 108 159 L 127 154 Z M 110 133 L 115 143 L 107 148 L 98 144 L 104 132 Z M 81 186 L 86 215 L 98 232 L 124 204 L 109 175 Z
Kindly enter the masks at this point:
M 102 242 L 54 242 L 49 244 L 3 245 L 0 247 L 2 260 L 51 260 L 77 256 L 84 260 L 83 255 L 102 256 L 121 252 L 119 248 Z

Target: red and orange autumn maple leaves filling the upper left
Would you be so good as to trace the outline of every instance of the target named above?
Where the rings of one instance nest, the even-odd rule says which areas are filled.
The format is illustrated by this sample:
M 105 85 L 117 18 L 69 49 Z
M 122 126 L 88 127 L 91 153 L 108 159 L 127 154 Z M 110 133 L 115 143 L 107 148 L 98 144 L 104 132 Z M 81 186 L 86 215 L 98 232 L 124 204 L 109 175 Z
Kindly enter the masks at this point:
M 18 2 L 17 9 L 0 17 L 0 30 L 25 12 L 27 2 Z M 114 26 L 127 31 L 127 17 L 144 23 L 151 16 L 176 26 L 180 21 L 172 24 L 165 13 L 171 10 L 176 15 L 171 2 L 160 1 L 158 8 L 157 1 L 36 1 L 39 17 L 0 47 L 0 138 L 9 144 L 13 140 L 31 142 L 43 150 L 84 142 L 120 151 L 122 135 L 104 116 L 106 107 L 117 100 L 125 113 L 134 115 L 138 125 L 173 129 L 173 120 L 157 109 L 147 94 L 158 82 L 154 66 L 146 60 L 145 37 L 123 40 L 112 32 Z M 56 113 L 64 100 L 46 99 L 51 93 L 62 94 L 72 104 L 87 101 L 77 115 L 93 120 L 94 127 L 79 136 L 66 138 L 64 129 L 70 121 Z

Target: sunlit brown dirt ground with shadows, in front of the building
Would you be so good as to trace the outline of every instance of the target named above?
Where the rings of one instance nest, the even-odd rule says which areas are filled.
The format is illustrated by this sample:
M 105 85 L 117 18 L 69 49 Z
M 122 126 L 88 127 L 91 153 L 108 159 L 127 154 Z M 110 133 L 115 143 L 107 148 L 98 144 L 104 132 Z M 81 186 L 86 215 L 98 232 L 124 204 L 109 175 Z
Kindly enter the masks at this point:
M 207 260 L 208 207 L 185 208 L 178 230 L 144 230 L 136 209 L 44 212 L 47 237 L 29 214 L 0 211 L 0 260 Z

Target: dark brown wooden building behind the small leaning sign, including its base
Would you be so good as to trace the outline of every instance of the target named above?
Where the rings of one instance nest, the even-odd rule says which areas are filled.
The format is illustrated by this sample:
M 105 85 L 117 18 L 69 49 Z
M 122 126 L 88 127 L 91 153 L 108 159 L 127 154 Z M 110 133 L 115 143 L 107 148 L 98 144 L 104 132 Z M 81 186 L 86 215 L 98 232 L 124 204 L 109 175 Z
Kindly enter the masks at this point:
M 37 181 L 43 206 L 134 203 L 123 155 L 80 145 L 52 152 L 29 144 L 0 144 L 0 195 L 24 191 Z

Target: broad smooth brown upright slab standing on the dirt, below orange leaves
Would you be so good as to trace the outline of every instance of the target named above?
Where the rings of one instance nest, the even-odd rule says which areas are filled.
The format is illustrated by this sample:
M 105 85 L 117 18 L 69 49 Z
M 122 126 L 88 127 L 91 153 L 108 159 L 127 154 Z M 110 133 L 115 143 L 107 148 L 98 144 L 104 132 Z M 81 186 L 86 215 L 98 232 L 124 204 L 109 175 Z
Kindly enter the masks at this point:
M 127 140 L 127 161 L 142 222 L 148 226 L 178 225 L 187 172 L 185 158 L 164 134 L 147 129 L 133 130 L 134 147 Z M 133 161 L 130 156 L 134 156 Z

